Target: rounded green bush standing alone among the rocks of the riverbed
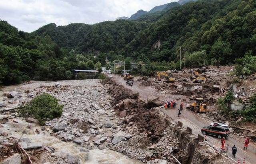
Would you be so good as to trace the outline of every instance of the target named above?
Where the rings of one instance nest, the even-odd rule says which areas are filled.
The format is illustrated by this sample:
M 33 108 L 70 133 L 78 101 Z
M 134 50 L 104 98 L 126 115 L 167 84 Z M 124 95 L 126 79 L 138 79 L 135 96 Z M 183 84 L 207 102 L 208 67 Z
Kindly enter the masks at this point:
M 41 126 L 47 119 L 54 119 L 62 115 L 63 105 L 58 104 L 58 99 L 50 96 L 49 94 L 42 94 L 36 96 L 24 107 L 18 110 L 22 117 L 32 117 L 38 120 Z

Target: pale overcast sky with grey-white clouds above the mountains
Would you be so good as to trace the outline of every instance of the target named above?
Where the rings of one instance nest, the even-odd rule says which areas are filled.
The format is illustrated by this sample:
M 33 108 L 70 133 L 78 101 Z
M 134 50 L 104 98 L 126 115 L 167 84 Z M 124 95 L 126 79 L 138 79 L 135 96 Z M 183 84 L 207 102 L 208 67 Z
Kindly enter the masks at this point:
M 94 24 L 178 0 L 0 0 L 0 19 L 25 32 L 49 23 Z

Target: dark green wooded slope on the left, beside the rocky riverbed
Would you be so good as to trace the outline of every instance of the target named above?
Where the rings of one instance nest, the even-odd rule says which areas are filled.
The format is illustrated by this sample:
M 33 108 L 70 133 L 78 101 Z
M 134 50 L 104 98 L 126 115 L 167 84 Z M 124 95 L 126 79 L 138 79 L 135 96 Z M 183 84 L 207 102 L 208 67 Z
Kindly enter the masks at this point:
M 73 69 L 99 68 L 97 61 L 60 48 L 49 35 L 34 36 L 0 20 L 0 84 L 71 79 Z

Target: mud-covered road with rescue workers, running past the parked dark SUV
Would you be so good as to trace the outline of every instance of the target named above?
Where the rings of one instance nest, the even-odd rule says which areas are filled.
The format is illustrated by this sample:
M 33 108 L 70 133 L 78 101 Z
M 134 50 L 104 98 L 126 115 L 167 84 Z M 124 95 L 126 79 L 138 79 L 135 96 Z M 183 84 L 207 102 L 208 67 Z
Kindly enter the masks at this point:
M 138 91 L 139 92 L 139 98 L 142 100 L 147 100 L 149 96 L 155 96 L 156 90 L 154 86 L 142 86 L 140 82 L 134 81 L 133 86 L 130 87 L 126 85 L 126 80 L 123 80 L 121 76 L 114 76 L 113 79 L 120 85 L 126 86 L 126 88 L 129 88 L 130 90 Z M 181 111 L 181 117 L 178 117 L 178 107 L 181 102 L 184 103 L 184 106 L 189 101 L 188 96 L 183 96 L 183 95 L 170 95 L 170 94 L 160 94 L 158 93 L 158 97 L 160 100 L 175 100 L 177 103 L 176 109 L 164 109 L 161 108 L 161 111 L 168 115 L 171 119 L 173 119 L 175 122 L 182 122 L 184 127 L 190 127 L 192 128 L 192 133 L 193 134 L 200 134 L 202 135 L 200 129 L 206 125 L 210 125 L 210 120 L 200 117 L 200 113 L 196 114 L 192 111 L 183 109 Z M 207 143 L 214 146 L 217 149 L 220 149 L 221 143 L 220 139 L 217 137 L 211 137 L 211 136 L 206 136 L 206 139 L 208 140 Z M 253 164 L 256 161 L 256 146 L 254 143 L 249 144 L 248 150 L 244 150 L 244 139 L 241 137 L 238 137 L 236 135 L 230 134 L 230 136 L 226 139 L 226 144 L 230 144 L 229 148 L 229 153 L 228 153 L 228 158 L 238 161 L 238 158 L 240 158 L 240 163 L 243 162 L 245 159 L 246 164 Z M 232 158 L 232 152 L 231 148 L 232 146 L 236 144 L 236 147 L 238 148 L 237 153 L 236 153 L 236 158 Z M 224 154 L 223 154 L 224 155 Z

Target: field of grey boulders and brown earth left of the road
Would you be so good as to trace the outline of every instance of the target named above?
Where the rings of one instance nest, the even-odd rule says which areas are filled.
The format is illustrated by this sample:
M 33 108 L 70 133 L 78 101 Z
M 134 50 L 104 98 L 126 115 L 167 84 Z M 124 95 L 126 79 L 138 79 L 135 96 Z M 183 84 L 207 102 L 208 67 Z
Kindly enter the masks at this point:
M 27 150 L 33 163 L 86 163 L 92 149 L 116 150 L 130 158 L 152 164 L 174 162 L 170 156 L 170 146 L 176 146 L 178 141 L 166 140 L 168 128 L 174 127 L 174 123 L 161 115 L 159 110 L 146 107 L 146 102 L 138 99 L 138 92 L 130 92 L 112 81 L 104 85 L 98 80 L 69 80 L 58 83 L 60 87 L 56 87 L 56 82 L 30 82 L 2 88 L 4 92 L 1 92 L 0 119 L 13 114 L 8 109 L 23 105 L 42 93 L 58 98 L 59 103 L 64 105 L 62 117 L 46 121 L 42 127 L 36 126 L 36 120 L 32 118 L 26 119 L 26 122 L 18 118 L 2 121 L 0 160 L 3 163 L 9 160 L 26 163 L 19 154 L 7 151 L 19 140 L 13 131 L 20 136 L 22 132 L 24 136 L 50 135 L 62 142 L 75 144 L 76 151 L 83 153 L 81 158 L 61 148 L 49 146 L 44 137 L 41 137 L 40 142 L 33 142 L 33 137 L 21 137 L 19 145 Z M 113 86 L 115 90 L 110 89 Z M 25 124 L 26 128 L 15 128 L 19 121 L 28 123 L 29 126 Z M 166 139 L 159 140 L 163 135 Z M 34 146 L 29 147 L 31 145 Z M 6 153 L 2 153 L 4 151 Z

